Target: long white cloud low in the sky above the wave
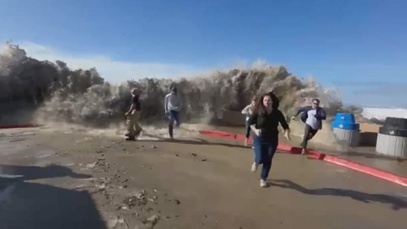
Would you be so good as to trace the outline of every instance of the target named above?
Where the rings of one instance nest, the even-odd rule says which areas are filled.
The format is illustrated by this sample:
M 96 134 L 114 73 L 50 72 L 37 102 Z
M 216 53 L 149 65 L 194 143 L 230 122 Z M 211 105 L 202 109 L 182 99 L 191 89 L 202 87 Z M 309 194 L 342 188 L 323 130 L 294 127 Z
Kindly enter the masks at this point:
M 186 77 L 203 71 L 203 69 L 184 64 L 117 61 L 102 55 L 70 55 L 68 52 L 32 42 L 22 42 L 19 44 L 20 48 L 25 50 L 27 56 L 38 60 L 61 60 L 66 62 L 72 69 L 96 67 L 105 80 L 113 83 L 143 77 Z

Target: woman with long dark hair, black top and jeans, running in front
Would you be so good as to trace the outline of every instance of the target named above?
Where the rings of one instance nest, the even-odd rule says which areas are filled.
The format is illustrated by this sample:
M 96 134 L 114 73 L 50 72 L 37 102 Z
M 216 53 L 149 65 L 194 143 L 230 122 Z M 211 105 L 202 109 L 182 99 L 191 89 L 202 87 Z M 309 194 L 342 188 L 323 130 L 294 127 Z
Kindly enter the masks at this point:
M 254 163 L 251 171 L 255 172 L 258 165 L 263 164 L 260 175 L 260 186 L 266 187 L 267 177 L 271 169 L 274 153 L 278 146 L 278 123 L 284 128 L 284 137 L 289 140 L 289 128 L 284 115 L 273 107 L 270 94 L 261 96 L 256 104 L 249 125 L 253 132 Z

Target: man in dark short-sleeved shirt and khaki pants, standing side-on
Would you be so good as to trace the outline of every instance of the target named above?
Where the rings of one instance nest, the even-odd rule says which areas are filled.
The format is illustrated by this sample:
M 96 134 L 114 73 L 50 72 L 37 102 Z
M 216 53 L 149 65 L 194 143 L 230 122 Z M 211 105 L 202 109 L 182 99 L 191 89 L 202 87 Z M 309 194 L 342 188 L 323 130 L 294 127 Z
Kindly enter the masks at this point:
M 129 111 L 126 112 L 127 116 L 127 136 L 126 140 L 134 141 L 135 137 L 140 134 L 142 128 L 139 124 L 140 118 L 140 111 L 141 111 L 141 104 L 139 100 L 139 94 L 136 89 L 131 90 L 131 106 Z

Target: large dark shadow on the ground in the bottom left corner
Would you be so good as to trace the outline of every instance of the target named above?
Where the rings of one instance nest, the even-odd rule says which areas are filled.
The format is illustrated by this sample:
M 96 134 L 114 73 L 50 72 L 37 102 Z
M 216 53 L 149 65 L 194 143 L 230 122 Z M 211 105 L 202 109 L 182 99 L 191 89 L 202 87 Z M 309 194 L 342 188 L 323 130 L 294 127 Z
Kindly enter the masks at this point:
M 0 228 L 105 229 L 105 222 L 87 191 L 33 182 L 64 176 L 90 177 L 57 165 L 0 165 Z

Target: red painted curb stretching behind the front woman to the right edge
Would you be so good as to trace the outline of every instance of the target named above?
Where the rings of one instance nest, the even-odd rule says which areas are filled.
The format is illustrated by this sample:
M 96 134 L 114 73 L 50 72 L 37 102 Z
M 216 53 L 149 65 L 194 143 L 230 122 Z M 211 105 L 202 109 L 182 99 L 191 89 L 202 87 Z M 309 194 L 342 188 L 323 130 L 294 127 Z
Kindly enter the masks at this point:
M 199 131 L 199 133 L 204 134 L 204 135 L 210 135 L 210 136 L 214 136 L 214 137 L 224 137 L 224 138 L 233 138 L 233 139 L 237 139 L 237 140 L 244 140 L 246 139 L 245 136 L 243 135 L 239 135 L 239 134 L 230 134 L 230 133 L 226 133 L 226 132 L 219 132 L 219 131 L 208 131 L 208 130 L 203 130 L 203 131 Z M 251 139 L 250 139 L 251 141 Z M 289 153 L 289 154 L 301 154 L 301 148 L 299 147 L 293 147 L 290 145 L 286 145 L 286 144 L 278 144 L 277 150 Z M 374 177 L 377 178 L 381 178 L 402 186 L 406 186 L 407 187 L 407 178 L 406 177 L 402 177 L 387 171 L 383 171 L 380 169 L 376 169 L 373 167 L 369 167 L 357 162 L 353 162 L 347 159 L 343 159 L 343 158 L 339 158 L 333 155 L 326 155 L 326 154 L 322 154 L 321 152 L 315 151 L 315 150 L 307 150 L 307 156 L 309 158 L 313 158 L 313 159 L 317 159 L 317 160 L 321 160 L 321 161 L 326 161 L 329 163 L 333 163 L 336 165 L 340 165 L 349 169 L 353 169 L 362 173 L 366 173 L 369 175 L 372 175 Z

